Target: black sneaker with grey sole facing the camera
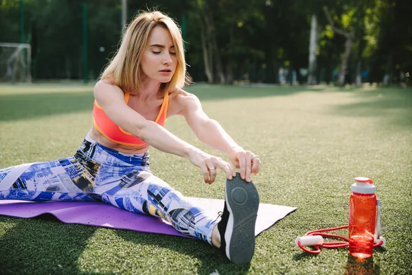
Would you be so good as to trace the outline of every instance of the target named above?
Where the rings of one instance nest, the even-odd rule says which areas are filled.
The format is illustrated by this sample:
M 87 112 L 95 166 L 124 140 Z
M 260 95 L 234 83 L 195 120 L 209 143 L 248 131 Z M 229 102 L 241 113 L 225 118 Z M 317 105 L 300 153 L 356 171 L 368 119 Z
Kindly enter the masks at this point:
M 220 248 L 233 263 L 248 263 L 255 252 L 259 194 L 239 173 L 226 181 L 225 208 L 218 223 Z

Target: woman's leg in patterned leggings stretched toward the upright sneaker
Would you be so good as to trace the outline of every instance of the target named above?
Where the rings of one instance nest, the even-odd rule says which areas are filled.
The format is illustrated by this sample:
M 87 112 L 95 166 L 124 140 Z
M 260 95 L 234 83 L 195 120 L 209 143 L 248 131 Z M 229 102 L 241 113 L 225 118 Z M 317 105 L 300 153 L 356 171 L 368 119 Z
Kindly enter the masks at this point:
M 216 217 L 209 217 L 205 210 L 152 173 L 135 171 L 112 186 L 102 193 L 104 202 L 131 212 L 161 217 L 179 232 L 212 244 L 211 233 L 218 223 Z

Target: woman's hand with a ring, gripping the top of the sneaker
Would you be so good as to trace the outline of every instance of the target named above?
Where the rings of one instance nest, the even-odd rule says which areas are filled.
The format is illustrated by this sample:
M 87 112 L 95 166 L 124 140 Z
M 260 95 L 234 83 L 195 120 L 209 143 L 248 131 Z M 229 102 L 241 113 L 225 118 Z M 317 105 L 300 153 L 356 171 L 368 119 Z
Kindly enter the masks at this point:
M 240 177 L 247 182 L 251 181 L 251 173 L 259 173 L 262 162 L 258 155 L 251 151 L 245 151 L 242 147 L 233 148 L 229 151 L 229 159 L 233 166 L 240 169 Z

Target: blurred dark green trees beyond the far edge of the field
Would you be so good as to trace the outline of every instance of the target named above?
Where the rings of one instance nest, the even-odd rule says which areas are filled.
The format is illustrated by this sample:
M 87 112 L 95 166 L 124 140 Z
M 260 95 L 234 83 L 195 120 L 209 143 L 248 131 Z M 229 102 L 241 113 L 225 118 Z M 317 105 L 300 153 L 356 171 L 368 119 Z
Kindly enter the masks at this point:
M 410 85 L 411 0 L 0 0 L 0 82 L 93 83 L 153 8 L 194 83 Z

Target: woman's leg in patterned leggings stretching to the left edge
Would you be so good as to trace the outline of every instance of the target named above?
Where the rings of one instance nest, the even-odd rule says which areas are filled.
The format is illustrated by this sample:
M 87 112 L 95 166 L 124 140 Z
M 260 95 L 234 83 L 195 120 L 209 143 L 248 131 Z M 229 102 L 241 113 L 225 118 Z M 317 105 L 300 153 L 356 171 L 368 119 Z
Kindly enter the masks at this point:
M 68 157 L 0 170 L 0 199 L 25 201 L 94 201 L 99 164 Z

